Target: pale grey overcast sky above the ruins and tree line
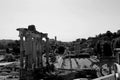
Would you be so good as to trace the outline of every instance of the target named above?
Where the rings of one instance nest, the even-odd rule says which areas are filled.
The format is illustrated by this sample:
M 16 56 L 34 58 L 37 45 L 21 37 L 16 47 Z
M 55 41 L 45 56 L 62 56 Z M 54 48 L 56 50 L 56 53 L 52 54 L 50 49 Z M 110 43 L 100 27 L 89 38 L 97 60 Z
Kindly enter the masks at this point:
M 17 28 L 34 24 L 61 41 L 120 29 L 120 0 L 0 0 L 0 39 L 19 39 Z

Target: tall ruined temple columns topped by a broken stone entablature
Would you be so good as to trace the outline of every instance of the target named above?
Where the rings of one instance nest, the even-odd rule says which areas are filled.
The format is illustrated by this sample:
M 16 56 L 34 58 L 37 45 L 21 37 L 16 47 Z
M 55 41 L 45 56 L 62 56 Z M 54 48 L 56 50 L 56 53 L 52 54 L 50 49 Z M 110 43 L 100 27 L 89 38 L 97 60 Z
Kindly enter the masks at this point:
M 46 64 L 48 64 L 48 41 L 47 34 L 35 33 L 25 28 L 17 29 L 20 37 L 20 80 L 24 80 L 26 71 L 29 73 L 35 68 L 43 67 L 42 52 L 43 38 L 46 39 Z M 26 80 L 30 80 L 30 76 Z

